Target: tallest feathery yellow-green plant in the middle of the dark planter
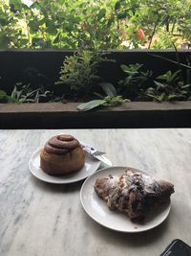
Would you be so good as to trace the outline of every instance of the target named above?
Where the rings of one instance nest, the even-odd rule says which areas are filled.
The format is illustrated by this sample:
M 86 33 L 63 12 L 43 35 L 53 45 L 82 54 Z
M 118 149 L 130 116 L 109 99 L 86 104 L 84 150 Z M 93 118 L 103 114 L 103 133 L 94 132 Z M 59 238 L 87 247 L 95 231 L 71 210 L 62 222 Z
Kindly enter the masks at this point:
M 55 84 L 65 86 L 69 97 L 89 97 L 93 93 L 93 87 L 101 80 L 98 76 L 100 63 L 108 61 L 103 55 L 96 50 L 78 49 L 74 56 L 64 59 L 59 80 Z

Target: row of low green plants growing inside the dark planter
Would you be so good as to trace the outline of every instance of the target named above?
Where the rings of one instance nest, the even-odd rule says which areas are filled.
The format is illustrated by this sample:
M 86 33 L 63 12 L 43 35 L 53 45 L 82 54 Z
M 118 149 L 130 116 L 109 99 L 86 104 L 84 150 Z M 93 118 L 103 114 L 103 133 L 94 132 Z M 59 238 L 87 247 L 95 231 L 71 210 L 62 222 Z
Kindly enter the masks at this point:
M 112 84 L 102 81 L 99 76 L 100 64 L 103 61 L 114 61 L 114 59 L 105 57 L 104 54 L 99 51 L 78 49 L 74 52 L 74 56 L 65 58 L 59 80 L 55 82 L 65 89 L 61 97 L 55 96 L 54 87 L 53 91 L 44 89 L 41 82 L 49 81 L 46 76 L 35 69 L 28 68 L 30 78 L 33 79 L 35 75 L 40 83 L 16 83 L 11 95 L 0 90 L 0 103 L 66 102 L 68 100 L 74 102 L 77 99 L 78 102 L 84 102 L 77 107 L 79 110 L 90 110 L 97 106 L 120 105 L 129 101 L 191 100 L 189 58 L 187 58 L 187 64 L 184 64 L 154 55 L 154 57 L 177 64 L 180 69 L 186 69 L 186 81 L 182 79 L 182 70 L 175 72 L 169 70 L 153 79 L 151 70 L 145 70 L 143 64 L 136 63 L 122 64 L 120 67 L 123 71 L 123 78 L 118 78 L 116 84 Z

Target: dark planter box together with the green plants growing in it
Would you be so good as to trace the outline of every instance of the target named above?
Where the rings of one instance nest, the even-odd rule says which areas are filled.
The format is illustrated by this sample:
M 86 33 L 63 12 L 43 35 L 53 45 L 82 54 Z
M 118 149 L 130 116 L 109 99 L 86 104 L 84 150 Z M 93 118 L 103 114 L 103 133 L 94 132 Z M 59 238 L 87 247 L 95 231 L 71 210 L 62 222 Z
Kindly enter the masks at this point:
M 189 51 L 1 51 L 0 56 L 7 63 L 1 69 L 1 101 L 13 102 L 0 105 L 2 128 L 190 126 Z

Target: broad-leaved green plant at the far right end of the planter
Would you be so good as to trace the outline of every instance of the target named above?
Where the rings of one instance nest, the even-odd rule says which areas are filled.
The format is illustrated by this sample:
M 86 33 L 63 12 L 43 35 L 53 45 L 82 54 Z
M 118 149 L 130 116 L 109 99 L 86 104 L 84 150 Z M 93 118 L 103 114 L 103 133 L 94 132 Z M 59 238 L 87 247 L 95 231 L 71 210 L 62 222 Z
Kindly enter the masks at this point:
M 154 101 L 191 100 L 191 85 L 180 81 L 180 70 L 167 71 L 156 78 L 155 87 L 149 87 L 145 94 Z

